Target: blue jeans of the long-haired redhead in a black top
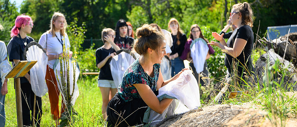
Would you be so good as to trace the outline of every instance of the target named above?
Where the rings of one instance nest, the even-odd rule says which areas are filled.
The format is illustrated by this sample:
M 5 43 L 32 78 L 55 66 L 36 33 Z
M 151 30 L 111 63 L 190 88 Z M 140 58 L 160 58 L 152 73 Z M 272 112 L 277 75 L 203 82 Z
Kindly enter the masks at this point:
M 176 75 L 178 72 L 180 72 L 182 69 L 185 68 L 184 61 L 181 58 L 175 58 L 171 61 L 171 77 Z

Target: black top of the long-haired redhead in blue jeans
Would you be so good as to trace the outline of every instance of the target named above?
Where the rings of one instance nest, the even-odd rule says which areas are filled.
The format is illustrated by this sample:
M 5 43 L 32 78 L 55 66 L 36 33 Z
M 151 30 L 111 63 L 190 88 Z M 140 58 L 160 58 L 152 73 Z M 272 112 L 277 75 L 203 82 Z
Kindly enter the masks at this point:
M 173 46 L 170 47 L 170 49 L 172 51 L 172 53 L 170 55 L 178 53 L 178 57 L 180 57 L 181 54 L 184 51 L 184 46 L 185 46 L 185 44 L 187 42 L 187 36 L 185 34 L 180 34 L 180 36 L 179 36 L 180 44 L 179 45 L 176 44 L 176 42 L 177 42 L 176 36 L 177 35 L 172 35 L 171 34 L 171 36 L 172 36 L 172 40 L 173 40 Z

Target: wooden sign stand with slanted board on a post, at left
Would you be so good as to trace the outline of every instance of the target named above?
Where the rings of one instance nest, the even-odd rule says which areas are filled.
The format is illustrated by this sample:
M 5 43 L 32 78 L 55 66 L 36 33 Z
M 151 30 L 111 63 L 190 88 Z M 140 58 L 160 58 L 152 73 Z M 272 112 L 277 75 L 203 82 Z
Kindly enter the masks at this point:
M 37 63 L 37 60 L 31 61 L 19 61 L 5 78 L 13 78 L 15 85 L 15 101 L 17 108 L 17 120 L 18 127 L 23 127 L 23 115 L 22 115 L 22 98 L 21 98 L 21 89 L 20 89 L 20 77 L 24 77 L 25 74 Z

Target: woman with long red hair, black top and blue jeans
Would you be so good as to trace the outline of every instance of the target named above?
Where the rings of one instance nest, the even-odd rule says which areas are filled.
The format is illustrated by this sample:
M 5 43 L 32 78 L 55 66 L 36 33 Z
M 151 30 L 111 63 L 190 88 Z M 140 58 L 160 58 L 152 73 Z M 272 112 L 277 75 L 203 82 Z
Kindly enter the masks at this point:
M 175 18 L 171 18 L 169 20 L 168 28 L 171 30 L 171 36 L 173 39 L 173 46 L 170 47 L 172 53 L 169 56 L 172 67 L 171 77 L 173 77 L 185 68 L 184 60 L 182 60 L 180 56 L 184 51 L 184 45 L 187 42 L 187 36 L 182 33 L 179 23 Z

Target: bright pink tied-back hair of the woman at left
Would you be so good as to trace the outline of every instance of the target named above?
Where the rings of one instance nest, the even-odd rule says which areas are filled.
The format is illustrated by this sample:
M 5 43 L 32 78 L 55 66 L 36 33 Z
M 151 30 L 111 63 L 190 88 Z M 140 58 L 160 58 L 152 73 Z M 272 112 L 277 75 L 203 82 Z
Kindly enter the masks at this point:
M 21 26 L 24 25 L 28 25 L 32 23 L 33 25 L 33 21 L 32 18 L 28 15 L 19 15 L 16 19 L 15 19 L 15 26 L 13 26 L 13 28 L 11 29 L 11 33 L 10 36 L 17 36 L 20 32 L 20 28 Z

